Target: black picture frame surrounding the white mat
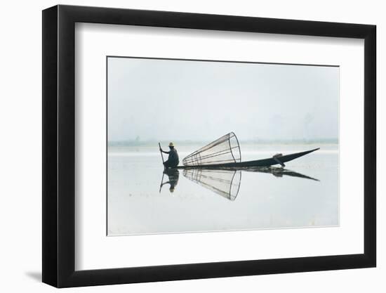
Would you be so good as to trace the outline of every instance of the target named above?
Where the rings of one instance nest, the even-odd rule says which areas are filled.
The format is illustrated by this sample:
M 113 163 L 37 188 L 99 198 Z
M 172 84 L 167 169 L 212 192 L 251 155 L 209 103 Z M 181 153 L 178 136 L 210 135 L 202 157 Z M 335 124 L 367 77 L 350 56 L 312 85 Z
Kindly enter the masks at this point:
M 76 22 L 364 39 L 364 254 L 75 271 Z M 375 25 L 53 6 L 43 11 L 43 282 L 79 287 L 376 265 Z M 353 162 L 354 164 L 354 162 Z

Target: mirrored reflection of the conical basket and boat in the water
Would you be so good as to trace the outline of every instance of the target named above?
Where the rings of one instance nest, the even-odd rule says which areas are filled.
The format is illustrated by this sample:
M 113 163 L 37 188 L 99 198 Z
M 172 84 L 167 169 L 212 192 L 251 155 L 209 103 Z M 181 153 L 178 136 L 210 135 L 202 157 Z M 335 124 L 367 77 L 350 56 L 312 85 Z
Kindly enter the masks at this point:
M 275 177 L 281 178 L 283 176 L 292 176 L 303 179 L 310 179 L 319 181 L 317 178 L 300 174 L 278 167 L 267 168 L 227 168 L 227 169 L 184 169 L 183 175 L 190 181 L 197 183 L 214 193 L 227 198 L 228 200 L 235 200 L 239 194 L 241 185 L 241 171 L 256 172 L 256 173 L 270 173 Z M 170 177 L 169 177 L 170 178 Z

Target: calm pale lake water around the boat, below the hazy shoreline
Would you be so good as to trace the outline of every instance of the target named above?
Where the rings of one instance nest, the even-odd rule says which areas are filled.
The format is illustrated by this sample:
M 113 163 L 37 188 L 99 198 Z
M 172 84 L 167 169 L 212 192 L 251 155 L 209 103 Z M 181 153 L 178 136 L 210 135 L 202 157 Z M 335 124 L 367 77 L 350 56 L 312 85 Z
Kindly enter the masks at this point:
M 109 147 L 108 235 L 338 226 L 338 145 L 241 145 L 241 155 L 247 161 L 318 147 L 285 170 L 172 174 L 164 174 L 157 145 Z M 177 146 L 180 162 L 198 148 Z M 161 181 L 173 193 L 169 183 L 160 190 Z

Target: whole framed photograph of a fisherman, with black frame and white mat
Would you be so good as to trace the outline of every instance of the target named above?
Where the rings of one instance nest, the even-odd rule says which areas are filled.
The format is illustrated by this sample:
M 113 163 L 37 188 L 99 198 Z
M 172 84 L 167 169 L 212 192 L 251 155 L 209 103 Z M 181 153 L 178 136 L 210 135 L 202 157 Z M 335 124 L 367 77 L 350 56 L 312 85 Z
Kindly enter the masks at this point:
M 44 10 L 43 282 L 374 267 L 375 72 L 374 25 Z

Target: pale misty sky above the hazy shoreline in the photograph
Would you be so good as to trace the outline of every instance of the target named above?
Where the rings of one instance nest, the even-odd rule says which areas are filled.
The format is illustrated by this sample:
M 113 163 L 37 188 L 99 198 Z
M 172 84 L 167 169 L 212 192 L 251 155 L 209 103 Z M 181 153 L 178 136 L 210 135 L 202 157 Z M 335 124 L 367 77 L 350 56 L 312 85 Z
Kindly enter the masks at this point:
M 108 58 L 108 139 L 338 138 L 339 67 Z

